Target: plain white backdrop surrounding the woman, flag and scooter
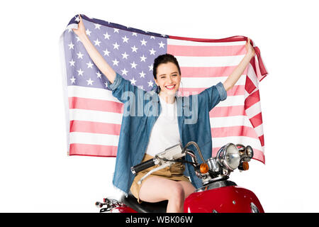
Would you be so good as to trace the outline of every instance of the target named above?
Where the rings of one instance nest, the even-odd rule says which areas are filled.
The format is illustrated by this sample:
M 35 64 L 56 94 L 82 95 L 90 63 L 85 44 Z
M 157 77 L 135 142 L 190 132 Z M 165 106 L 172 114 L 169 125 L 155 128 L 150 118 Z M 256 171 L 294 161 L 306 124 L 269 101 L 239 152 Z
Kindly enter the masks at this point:
M 5 1 L 0 6 L 0 211 L 98 212 L 117 198 L 115 158 L 67 157 L 59 38 L 77 13 L 191 38 L 245 35 L 269 75 L 259 84 L 266 165 L 230 179 L 267 212 L 318 212 L 315 1 Z

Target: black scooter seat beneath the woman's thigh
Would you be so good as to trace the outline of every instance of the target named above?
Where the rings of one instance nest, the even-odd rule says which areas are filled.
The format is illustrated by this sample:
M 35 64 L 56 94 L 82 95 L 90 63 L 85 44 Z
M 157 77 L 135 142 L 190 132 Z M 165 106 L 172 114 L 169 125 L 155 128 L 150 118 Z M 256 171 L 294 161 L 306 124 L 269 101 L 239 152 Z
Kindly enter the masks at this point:
M 157 203 L 142 201 L 142 203 L 139 204 L 138 199 L 136 199 L 131 192 L 128 192 L 128 197 L 123 195 L 121 197 L 121 202 L 126 206 L 130 206 L 130 208 L 135 211 L 138 211 L 138 213 L 166 213 L 168 201 L 164 200 Z

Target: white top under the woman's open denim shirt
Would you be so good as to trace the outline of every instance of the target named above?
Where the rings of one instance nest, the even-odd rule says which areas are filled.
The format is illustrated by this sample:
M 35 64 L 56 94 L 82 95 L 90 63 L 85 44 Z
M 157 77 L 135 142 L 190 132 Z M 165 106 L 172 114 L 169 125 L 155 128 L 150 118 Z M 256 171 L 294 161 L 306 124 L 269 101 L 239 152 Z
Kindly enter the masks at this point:
M 174 101 L 174 104 L 167 104 L 161 96 L 159 96 L 159 101 L 161 102 L 162 111 L 152 128 L 146 149 L 146 153 L 152 156 L 179 143 L 176 101 Z

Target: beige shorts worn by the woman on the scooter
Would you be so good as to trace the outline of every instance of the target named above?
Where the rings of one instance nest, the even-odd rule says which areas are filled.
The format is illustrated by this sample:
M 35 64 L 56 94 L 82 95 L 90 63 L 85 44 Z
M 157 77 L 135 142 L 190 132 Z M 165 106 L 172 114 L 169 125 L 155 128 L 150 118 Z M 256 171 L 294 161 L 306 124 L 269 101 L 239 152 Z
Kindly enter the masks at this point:
M 142 162 L 145 162 L 147 160 L 150 160 L 153 158 L 152 155 L 147 155 L 145 153 Z M 151 175 L 146 177 L 143 181 L 142 184 L 138 184 L 138 181 L 144 177 L 144 175 L 147 174 L 152 169 L 155 169 L 158 167 L 158 165 L 152 166 L 150 168 L 147 168 L 146 170 L 142 170 L 141 172 L 138 172 L 138 175 L 135 176 L 133 180 L 133 184 L 130 187 L 130 192 L 132 192 L 133 196 L 135 196 L 136 199 L 138 199 L 138 203 L 141 203 L 139 193 L 140 193 L 140 188 L 142 187 L 142 184 L 145 179 L 152 177 L 152 176 L 158 176 L 158 177 L 164 177 L 165 179 L 172 179 L 175 181 L 185 181 L 185 182 L 191 182 L 188 177 L 183 175 L 183 172 L 185 170 L 185 165 L 181 162 L 176 162 L 170 167 L 166 167 L 162 170 L 157 170 L 156 172 L 153 172 Z

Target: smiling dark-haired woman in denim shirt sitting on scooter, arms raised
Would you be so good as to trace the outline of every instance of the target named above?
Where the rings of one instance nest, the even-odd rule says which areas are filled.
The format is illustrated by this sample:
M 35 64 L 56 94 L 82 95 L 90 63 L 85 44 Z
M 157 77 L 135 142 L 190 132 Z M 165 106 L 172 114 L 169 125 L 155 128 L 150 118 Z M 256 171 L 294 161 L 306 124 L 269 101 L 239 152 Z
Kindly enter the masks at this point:
M 79 18 L 79 26 L 73 31 L 79 36 L 96 67 L 107 77 L 110 82 L 108 87 L 112 90 L 113 96 L 123 102 L 126 101 L 123 99 L 125 92 L 133 92 L 138 96 L 138 92 L 142 90 L 123 79 L 108 65 L 86 36 L 82 17 L 79 16 Z M 147 202 L 168 200 L 167 212 L 183 211 L 184 199 L 194 192 L 196 187 L 201 186 L 194 170 L 186 165 L 190 181 L 188 177 L 183 175 L 185 166 L 174 164 L 172 167 L 154 172 L 145 178 L 142 184 L 137 184 L 138 180 L 150 169 L 134 176 L 130 172 L 130 167 L 152 158 L 157 153 L 164 151 L 165 148 L 177 143 L 182 143 L 184 146 L 191 140 L 198 143 L 204 158 L 211 157 L 209 111 L 219 101 L 226 99 L 226 92 L 235 85 L 254 56 L 254 48 L 250 45 L 250 39 L 247 40 L 246 50 L 245 57 L 223 84 L 219 82 L 201 94 L 190 96 L 192 100 L 196 98 L 196 106 L 192 106 L 193 102 L 191 101 L 186 104 L 180 97 L 176 96 L 181 82 L 181 70 L 177 59 L 168 54 L 159 55 L 155 59 L 153 75 L 157 92 L 155 94 L 148 92 L 152 99 L 142 100 L 144 106 L 152 104 L 153 113 L 142 114 L 142 116 L 123 116 L 113 178 L 113 184 L 116 187 L 125 193 L 130 190 L 139 202 L 140 200 Z M 143 94 L 147 93 L 142 92 Z M 189 120 L 185 114 L 187 105 L 189 105 L 188 109 L 196 109 L 197 111 L 194 123 L 186 123 Z

